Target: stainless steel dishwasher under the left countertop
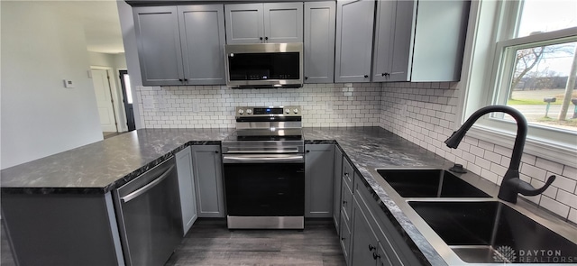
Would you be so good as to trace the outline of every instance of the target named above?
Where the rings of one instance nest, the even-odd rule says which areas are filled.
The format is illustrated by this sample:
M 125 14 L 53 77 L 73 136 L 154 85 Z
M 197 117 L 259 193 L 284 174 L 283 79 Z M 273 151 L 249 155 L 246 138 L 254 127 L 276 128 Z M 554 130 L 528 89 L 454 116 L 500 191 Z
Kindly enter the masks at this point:
M 126 265 L 164 265 L 182 239 L 175 162 L 171 157 L 114 190 Z

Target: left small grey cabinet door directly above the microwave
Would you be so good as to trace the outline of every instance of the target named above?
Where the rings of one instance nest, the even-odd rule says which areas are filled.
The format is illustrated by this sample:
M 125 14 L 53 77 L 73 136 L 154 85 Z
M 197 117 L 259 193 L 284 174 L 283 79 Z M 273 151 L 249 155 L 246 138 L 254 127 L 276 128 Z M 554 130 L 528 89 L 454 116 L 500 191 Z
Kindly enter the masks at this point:
M 261 43 L 264 39 L 262 4 L 224 5 L 226 43 Z

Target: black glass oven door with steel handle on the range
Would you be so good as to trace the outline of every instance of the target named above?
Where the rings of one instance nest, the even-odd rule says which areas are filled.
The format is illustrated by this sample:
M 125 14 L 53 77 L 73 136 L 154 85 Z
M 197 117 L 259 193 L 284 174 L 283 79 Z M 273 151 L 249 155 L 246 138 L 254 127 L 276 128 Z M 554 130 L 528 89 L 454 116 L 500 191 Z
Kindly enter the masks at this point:
M 304 216 L 302 154 L 224 154 L 228 216 Z

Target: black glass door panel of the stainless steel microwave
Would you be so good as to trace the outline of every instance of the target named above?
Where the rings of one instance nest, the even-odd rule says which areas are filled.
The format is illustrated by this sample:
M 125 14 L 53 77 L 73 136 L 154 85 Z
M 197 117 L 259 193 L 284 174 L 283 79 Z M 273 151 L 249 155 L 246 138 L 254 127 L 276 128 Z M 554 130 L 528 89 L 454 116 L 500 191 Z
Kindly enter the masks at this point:
M 235 53 L 228 65 L 231 80 L 300 78 L 298 52 Z

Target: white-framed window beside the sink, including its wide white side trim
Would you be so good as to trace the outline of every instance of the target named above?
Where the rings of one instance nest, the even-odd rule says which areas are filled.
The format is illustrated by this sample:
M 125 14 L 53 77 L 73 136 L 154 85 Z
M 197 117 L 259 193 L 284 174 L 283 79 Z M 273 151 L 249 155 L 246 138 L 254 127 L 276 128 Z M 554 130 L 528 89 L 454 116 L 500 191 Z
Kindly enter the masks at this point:
M 529 123 L 526 151 L 574 165 L 577 1 L 480 1 L 472 17 L 475 40 L 463 120 L 481 106 L 509 105 Z M 512 121 L 488 115 L 473 135 L 510 146 Z

